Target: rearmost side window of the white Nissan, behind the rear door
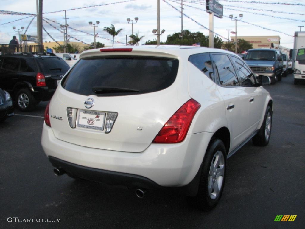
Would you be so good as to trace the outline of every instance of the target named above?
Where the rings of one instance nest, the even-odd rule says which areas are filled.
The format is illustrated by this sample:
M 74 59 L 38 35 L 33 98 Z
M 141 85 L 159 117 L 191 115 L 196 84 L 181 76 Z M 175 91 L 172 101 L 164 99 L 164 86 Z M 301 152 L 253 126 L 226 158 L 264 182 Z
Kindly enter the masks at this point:
M 199 70 L 202 71 L 211 80 L 214 79 L 212 61 L 209 54 L 192 55 L 188 60 L 197 68 L 199 68 Z

